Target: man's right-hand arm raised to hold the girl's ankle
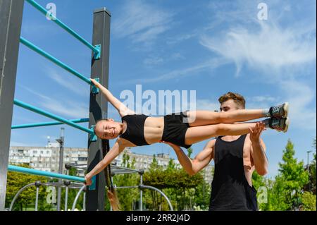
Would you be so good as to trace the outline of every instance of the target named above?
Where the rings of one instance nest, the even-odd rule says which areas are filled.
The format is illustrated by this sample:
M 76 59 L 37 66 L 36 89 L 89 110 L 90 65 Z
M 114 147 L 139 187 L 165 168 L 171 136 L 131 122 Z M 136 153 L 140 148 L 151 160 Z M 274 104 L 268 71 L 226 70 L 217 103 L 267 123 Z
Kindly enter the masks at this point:
M 254 162 L 256 172 L 264 176 L 268 173 L 268 158 L 266 157 L 266 145 L 260 138 L 264 125 L 258 123 L 256 127 L 250 132 L 251 140 L 251 157 Z

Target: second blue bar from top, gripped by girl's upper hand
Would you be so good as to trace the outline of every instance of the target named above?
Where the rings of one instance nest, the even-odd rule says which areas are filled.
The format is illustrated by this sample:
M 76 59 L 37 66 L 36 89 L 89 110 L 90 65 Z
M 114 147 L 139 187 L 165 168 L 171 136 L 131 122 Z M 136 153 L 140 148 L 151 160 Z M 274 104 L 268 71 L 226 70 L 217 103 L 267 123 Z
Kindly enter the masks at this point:
M 44 56 L 46 59 L 49 59 L 50 61 L 56 63 L 57 66 L 61 66 L 61 68 L 64 68 L 66 71 L 73 73 L 73 75 L 77 76 L 77 78 L 80 78 L 81 80 L 84 80 L 87 84 L 89 85 L 93 85 L 92 82 L 86 78 L 84 75 L 78 73 L 77 71 L 75 71 L 73 68 L 71 68 L 70 66 L 66 65 L 65 63 L 59 61 L 58 59 L 56 59 L 54 56 L 48 54 L 46 51 L 40 49 L 39 47 L 37 47 L 35 44 L 32 44 L 32 42 L 29 42 L 27 39 L 25 39 L 24 37 L 20 37 L 20 42 L 22 44 L 24 44 L 26 47 L 29 47 L 30 49 L 32 49 L 33 51 L 36 51 L 38 54 Z

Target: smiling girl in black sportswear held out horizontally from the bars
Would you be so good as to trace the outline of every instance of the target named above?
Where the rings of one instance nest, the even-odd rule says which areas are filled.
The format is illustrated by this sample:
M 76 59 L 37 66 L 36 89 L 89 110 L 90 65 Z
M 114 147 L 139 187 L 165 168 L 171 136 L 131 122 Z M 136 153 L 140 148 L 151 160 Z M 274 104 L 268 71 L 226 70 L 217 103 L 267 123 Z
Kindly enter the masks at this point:
M 94 131 L 99 138 L 118 139 L 104 159 L 85 176 L 87 185 L 90 185 L 92 183 L 91 178 L 103 171 L 125 147 L 151 145 L 164 141 L 188 148 L 194 143 L 220 135 L 244 135 L 249 133 L 249 128 L 255 128 L 256 122 L 235 122 L 262 117 L 271 118 L 261 121 L 261 126 L 283 132 L 286 132 L 289 126 L 287 118 L 288 103 L 270 109 L 239 109 L 232 112 L 185 111 L 180 114 L 152 117 L 135 114 L 116 97 L 113 97 L 106 87 L 97 83 L 96 80 L 92 80 L 92 83 L 105 95 L 108 102 L 118 110 L 122 122 L 113 121 L 111 118 L 103 119 L 98 121 L 94 127 Z

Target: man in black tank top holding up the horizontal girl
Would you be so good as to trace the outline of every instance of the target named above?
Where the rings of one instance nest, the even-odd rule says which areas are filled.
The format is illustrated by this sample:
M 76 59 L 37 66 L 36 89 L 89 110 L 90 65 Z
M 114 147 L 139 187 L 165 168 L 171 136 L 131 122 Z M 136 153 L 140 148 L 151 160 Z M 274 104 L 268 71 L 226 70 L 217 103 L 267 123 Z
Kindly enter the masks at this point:
M 245 109 L 242 95 L 228 92 L 218 100 L 220 111 Z M 251 177 L 254 170 L 261 176 L 268 171 L 266 146 L 260 138 L 265 129 L 264 123 L 258 123 L 247 135 L 210 140 L 194 159 L 189 159 L 179 146 L 166 143 L 173 147 L 189 175 L 197 174 L 214 159 L 209 210 L 257 210 L 256 190 Z

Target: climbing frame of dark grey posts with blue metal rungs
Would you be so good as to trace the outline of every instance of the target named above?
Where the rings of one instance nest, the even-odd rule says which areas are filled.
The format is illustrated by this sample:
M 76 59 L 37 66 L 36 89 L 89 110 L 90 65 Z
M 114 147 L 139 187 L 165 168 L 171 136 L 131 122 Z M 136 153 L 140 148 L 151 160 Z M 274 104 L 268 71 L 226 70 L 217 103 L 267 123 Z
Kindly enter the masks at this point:
M 108 63 L 109 63 L 109 45 L 110 45 L 110 21 L 111 14 L 106 10 L 106 8 L 100 8 L 94 11 L 94 24 L 93 24 L 93 37 L 92 44 L 83 39 L 74 30 L 70 29 L 65 23 L 61 22 L 58 18 L 54 17 L 51 13 L 46 11 L 45 8 L 37 4 L 33 0 L 25 0 L 27 3 L 31 4 L 37 10 L 42 12 L 45 16 L 50 16 L 51 21 L 59 25 L 61 28 L 66 30 L 70 35 L 73 35 L 80 42 L 85 44 L 85 46 L 92 49 L 92 71 L 91 78 L 96 80 L 99 79 L 99 83 L 104 87 L 108 87 Z M 5 0 L 0 1 L 0 211 L 4 210 L 4 203 L 6 199 L 6 177 L 8 171 L 8 152 L 10 147 L 11 138 L 11 126 L 12 126 L 12 114 L 13 114 L 13 102 L 14 104 L 35 111 L 38 114 L 42 114 L 49 118 L 53 118 L 58 121 L 58 123 L 39 123 L 32 125 L 21 125 L 20 127 L 15 126 L 15 128 L 26 128 L 35 126 L 51 126 L 60 123 L 68 124 L 77 129 L 85 131 L 94 137 L 92 134 L 93 126 L 102 116 L 106 115 L 107 112 L 107 102 L 105 97 L 97 95 L 99 90 L 92 86 L 92 82 L 89 78 L 75 71 L 70 66 L 59 61 L 51 54 L 46 53 L 46 51 L 40 49 L 39 47 L 32 44 L 32 42 L 27 39 L 20 37 L 20 30 L 23 18 L 23 6 L 24 0 Z M 44 56 L 46 59 L 56 63 L 56 65 L 61 66 L 66 69 L 66 71 L 73 73 L 85 83 L 91 85 L 90 87 L 90 102 L 89 102 L 89 128 L 84 128 L 78 126 L 76 123 L 79 121 L 70 121 L 60 116 L 50 114 L 49 112 L 43 111 L 42 109 L 37 109 L 32 107 L 25 102 L 21 102 L 18 99 L 13 99 L 15 92 L 15 78 L 18 65 L 18 50 L 19 43 L 25 44 L 25 46 L 36 51 L 37 53 Z M 85 121 L 87 122 L 87 120 Z M 101 141 L 97 138 L 88 138 L 88 166 L 87 170 L 91 170 L 96 166 L 102 159 L 103 155 L 101 153 Z M 104 194 L 105 185 L 104 174 L 101 173 L 97 175 L 94 188 L 89 188 L 87 190 L 87 210 L 104 210 Z

